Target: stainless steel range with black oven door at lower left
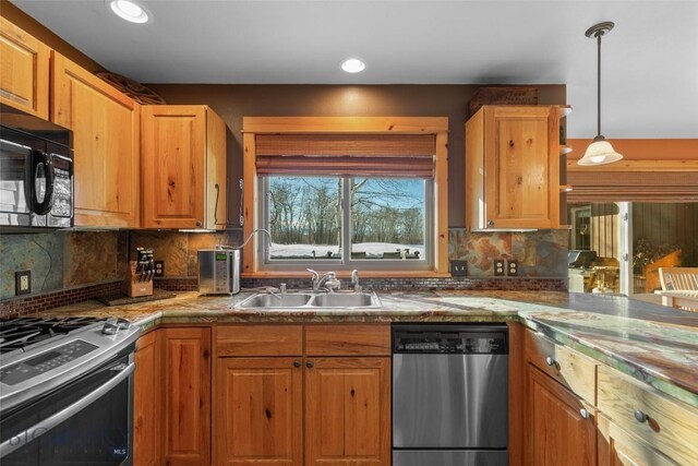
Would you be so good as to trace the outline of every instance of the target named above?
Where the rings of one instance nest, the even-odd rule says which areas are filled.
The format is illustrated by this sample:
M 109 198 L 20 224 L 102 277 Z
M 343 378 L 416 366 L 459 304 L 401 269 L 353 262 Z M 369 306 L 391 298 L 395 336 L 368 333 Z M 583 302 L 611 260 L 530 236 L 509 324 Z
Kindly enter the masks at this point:
M 0 464 L 131 465 L 139 334 L 116 319 L 0 321 Z

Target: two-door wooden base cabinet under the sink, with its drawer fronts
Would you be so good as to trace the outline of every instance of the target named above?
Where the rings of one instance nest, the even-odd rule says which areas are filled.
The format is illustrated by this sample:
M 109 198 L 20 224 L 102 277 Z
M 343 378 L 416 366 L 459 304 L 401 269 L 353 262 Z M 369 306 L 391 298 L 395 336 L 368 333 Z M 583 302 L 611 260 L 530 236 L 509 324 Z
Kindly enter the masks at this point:
M 278 356 L 264 330 L 216 330 L 214 463 L 388 466 L 389 325 L 268 325 Z

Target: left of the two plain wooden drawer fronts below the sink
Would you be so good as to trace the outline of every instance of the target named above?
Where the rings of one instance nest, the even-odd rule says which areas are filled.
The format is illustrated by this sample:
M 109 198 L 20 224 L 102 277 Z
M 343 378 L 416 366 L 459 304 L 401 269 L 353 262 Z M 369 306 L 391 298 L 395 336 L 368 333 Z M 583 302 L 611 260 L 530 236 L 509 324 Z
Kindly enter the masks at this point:
M 216 356 L 300 356 L 302 325 L 220 325 L 216 327 Z

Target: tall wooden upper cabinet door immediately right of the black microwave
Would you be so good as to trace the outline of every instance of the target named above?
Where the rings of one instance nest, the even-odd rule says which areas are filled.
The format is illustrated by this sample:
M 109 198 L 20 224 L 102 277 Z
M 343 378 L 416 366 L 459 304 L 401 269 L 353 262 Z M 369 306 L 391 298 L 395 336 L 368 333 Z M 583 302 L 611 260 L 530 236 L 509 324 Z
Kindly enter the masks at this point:
M 75 226 L 137 227 L 140 106 L 51 52 L 51 119 L 73 130 Z

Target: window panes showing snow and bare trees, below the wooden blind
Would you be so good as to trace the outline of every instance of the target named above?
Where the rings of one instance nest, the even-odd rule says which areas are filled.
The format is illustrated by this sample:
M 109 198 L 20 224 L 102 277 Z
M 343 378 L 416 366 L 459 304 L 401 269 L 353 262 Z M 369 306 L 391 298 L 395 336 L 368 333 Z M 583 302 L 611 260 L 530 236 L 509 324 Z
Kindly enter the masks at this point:
M 433 182 L 413 178 L 266 176 L 258 251 L 269 270 L 428 270 Z

